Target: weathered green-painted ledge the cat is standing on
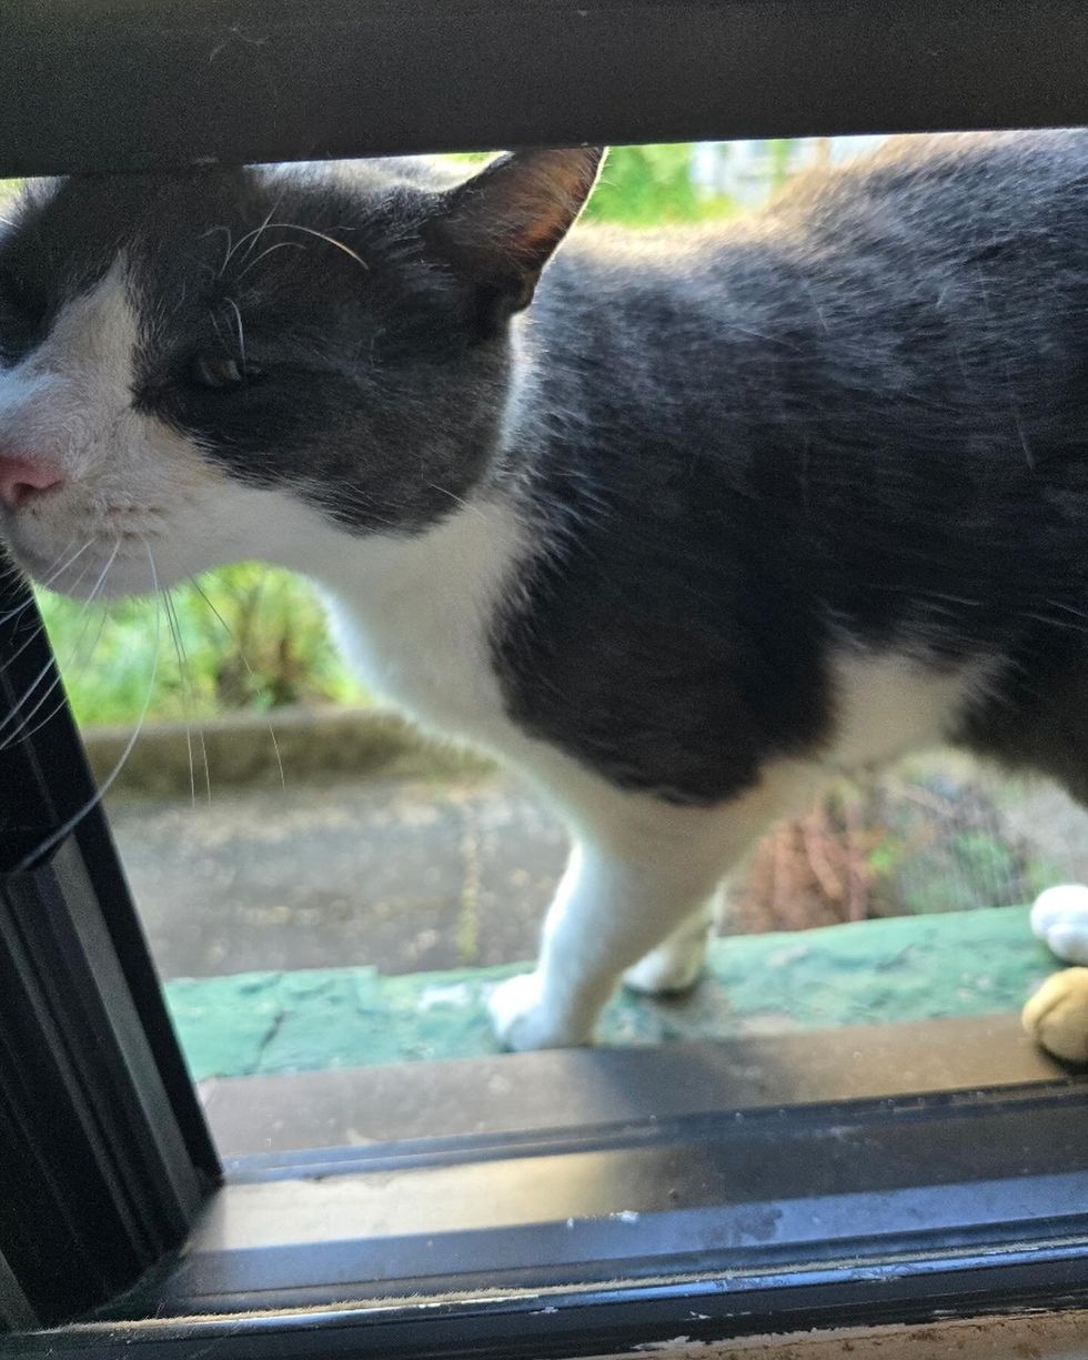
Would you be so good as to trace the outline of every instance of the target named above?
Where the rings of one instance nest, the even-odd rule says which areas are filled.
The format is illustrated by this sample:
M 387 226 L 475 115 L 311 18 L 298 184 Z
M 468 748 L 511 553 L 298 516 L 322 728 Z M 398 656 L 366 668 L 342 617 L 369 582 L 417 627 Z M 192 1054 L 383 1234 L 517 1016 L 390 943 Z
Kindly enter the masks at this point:
M 525 964 L 384 976 L 314 968 L 175 979 L 166 996 L 197 1080 L 496 1053 L 490 987 Z M 1019 1010 L 1055 960 L 1024 907 L 715 940 L 691 996 L 617 997 L 611 1044 L 787 1034 Z

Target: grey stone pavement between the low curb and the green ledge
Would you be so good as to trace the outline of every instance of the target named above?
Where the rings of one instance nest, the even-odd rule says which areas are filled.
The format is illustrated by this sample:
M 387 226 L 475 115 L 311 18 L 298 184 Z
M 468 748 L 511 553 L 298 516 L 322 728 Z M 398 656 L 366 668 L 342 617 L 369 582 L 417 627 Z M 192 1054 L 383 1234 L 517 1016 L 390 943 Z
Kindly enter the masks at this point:
M 109 815 L 165 978 L 528 959 L 566 857 L 540 801 L 494 775 L 212 786 Z

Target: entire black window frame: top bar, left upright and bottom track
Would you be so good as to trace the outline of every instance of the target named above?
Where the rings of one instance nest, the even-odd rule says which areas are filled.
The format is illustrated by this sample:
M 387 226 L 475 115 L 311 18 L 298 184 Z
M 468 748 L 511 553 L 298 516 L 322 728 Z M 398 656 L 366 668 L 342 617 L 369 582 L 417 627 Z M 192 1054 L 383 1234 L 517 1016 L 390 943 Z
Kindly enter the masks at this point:
M 1088 124 L 1087 37 L 1081 0 L 7 0 L 0 174 Z M 4 573 L 5 706 L 52 665 L 38 626 Z M 65 830 L 92 785 L 63 704 L 0 752 L 0 790 L 4 1356 L 543 1357 L 1088 1303 L 1088 1084 L 1012 1019 L 941 1023 L 971 1042 L 936 1077 L 917 1027 L 860 1039 L 865 1089 L 827 1073 L 820 1099 L 782 1074 L 745 1091 L 737 1051 L 732 1103 L 602 1096 L 581 1125 L 249 1159 L 223 1183 L 106 819 Z M 539 1069 L 502 1061 L 530 1100 Z M 579 1059 L 548 1061 L 562 1089 Z M 831 1254 L 782 1193 L 798 1159 L 811 1212 L 857 1223 Z M 269 1204 L 302 1223 L 332 1176 L 336 1243 L 269 1232 Z M 348 1191 L 390 1178 L 405 1214 L 439 1182 L 452 1208 L 378 1262 Z M 490 1205 L 500 1180 L 537 1209 Z

